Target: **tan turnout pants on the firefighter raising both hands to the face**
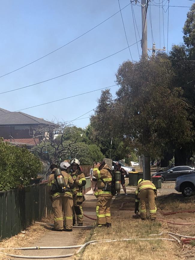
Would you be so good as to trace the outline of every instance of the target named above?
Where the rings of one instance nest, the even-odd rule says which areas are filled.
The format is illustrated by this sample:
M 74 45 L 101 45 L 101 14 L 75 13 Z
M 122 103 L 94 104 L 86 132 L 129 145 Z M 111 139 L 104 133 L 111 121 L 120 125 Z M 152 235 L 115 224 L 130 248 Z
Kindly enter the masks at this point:
M 111 223 L 110 202 L 112 197 L 113 195 L 97 197 L 98 200 L 96 204 L 96 215 L 98 226 Z

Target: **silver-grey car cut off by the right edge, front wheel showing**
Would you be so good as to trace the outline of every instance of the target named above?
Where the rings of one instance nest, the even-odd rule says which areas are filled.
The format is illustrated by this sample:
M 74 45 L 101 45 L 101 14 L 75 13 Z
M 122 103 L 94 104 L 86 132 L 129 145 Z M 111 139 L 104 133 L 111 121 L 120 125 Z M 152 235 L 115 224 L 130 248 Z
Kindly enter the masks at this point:
M 175 190 L 181 192 L 184 197 L 191 196 L 195 192 L 195 173 L 179 176 Z

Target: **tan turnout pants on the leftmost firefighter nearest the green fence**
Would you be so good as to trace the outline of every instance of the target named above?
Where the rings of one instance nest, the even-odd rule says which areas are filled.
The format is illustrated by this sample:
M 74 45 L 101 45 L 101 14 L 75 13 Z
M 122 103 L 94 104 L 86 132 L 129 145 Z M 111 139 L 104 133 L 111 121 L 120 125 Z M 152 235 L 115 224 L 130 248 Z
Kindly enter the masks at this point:
M 73 215 L 72 215 L 73 199 L 64 196 L 53 200 L 52 207 L 54 211 L 54 227 L 55 229 L 63 229 L 63 213 L 64 222 L 67 229 L 72 229 Z M 63 210 L 63 213 L 62 213 Z

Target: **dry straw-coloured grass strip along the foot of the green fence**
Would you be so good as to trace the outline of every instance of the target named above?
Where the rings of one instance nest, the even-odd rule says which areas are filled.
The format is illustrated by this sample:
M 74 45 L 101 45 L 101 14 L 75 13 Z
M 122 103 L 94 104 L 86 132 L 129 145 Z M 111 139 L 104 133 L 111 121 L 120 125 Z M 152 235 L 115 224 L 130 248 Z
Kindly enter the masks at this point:
M 46 229 L 44 226 L 34 223 L 34 225 L 30 226 L 18 235 L 13 236 L 12 238 L 4 239 L 2 242 L 0 242 L 0 247 L 13 248 L 32 246 L 32 244 L 34 244 L 36 240 L 44 234 L 45 231 Z M 21 254 L 21 251 L 19 250 L 10 249 L 3 250 L 2 252 L 9 254 Z M 10 257 L 6 256 L 5 254 L 0 254 L 0 259 L 10 259 Z

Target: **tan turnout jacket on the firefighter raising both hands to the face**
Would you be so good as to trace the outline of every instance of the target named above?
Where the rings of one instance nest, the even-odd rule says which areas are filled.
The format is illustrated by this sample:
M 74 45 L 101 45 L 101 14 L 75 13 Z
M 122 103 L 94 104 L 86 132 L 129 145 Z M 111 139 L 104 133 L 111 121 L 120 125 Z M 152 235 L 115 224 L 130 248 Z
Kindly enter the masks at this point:
M 104 165 L 104 167 L 99 170 L 98 168 L 94 167 L 93 169 L 93 176 L 98 179 L 97 187 L 98 190 L 95 191 L 95 196 L 104 196 L 104 197 L 109 197 L 112 195 L 111 191 L 103 191 L 102 189 L 105 187 L 104 182 L 107 184 L 112 184 L 112 175 L 110 174 L 109 166 L 107 164 Z M 111 169 L 110 169 L 111 170 Z M 102 181 L 102 180 L 104 181 Z

